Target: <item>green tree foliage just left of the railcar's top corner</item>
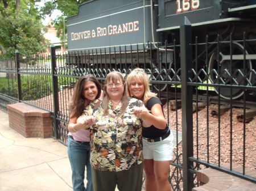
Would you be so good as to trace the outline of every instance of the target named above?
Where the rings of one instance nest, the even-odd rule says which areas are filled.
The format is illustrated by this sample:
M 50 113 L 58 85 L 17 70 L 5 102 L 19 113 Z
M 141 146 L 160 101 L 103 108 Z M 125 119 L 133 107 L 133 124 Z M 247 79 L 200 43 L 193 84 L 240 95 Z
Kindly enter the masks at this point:
M 63 22 L 63 20 L 68 16 L 78 14 L 79 5 L 84 3 L 85 1 L 86 0 L 59 0 L 48 1 L 44 3 L 44 7 L 41 10 L 42 16 L 51 15 L 52 11 L 55 9 L 60 10 L 63 14 L 57 16 L 57 18 L 53 20 L 54 27 L 57 30 L 57 37 L 59 37 L 62 42 L 64 42 L 64 34 L 67 34 L 67 25 L 65 22 Z

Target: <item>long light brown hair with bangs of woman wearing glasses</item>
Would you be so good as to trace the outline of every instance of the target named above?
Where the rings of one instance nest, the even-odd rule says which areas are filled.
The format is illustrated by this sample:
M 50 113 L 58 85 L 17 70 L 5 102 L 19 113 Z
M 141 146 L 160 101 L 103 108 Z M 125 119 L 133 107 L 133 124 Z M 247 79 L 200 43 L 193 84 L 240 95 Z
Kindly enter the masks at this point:
M 121 83 L 123 83 L 123 95 L 122 95 L 122 99 L 121 99 L 121 114 L 118 117 L 122 117 L 123 114 L 126 111 L 127 105 L 129 103 L 128 97 L 127 97 L 127 92 L 126 92 L 126 84 L 125 84 L 125 79 L 123 78 L 123 75 L 121 73 L 119 73 L 118 71 L 112 71 L 110 72 L 105 80 L 105 86 L 103 88 L 103 98 L 102 98 L 102 108 L 104 109 L 104 116 L 106 116 L 107 114 L 109 114 L 108 111 L 108 105 L 109 105 L 109 94 L 106 91 L 106 84 L 108 82 L 110 82 L 110 80 L 112 80 L 112 82 L 117 82 L 117 80 L 120 80 Z

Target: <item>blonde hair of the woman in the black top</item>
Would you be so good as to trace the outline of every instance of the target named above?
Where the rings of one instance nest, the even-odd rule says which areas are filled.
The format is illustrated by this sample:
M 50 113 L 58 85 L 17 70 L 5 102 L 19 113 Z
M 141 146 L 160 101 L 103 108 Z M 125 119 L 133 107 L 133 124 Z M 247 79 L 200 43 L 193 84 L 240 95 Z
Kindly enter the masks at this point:
M 131 85 L 131 82 L 133 81 L 135 82 L 141 81 L 143 83 L 144 94 L 142 96 L 142 101 L 145 105 L 151 97 L 156 97 L 156 94 L 150 91 L 150 87 L 149 87 L 150 79 L 148 78 L 148 75 L 145 73 L 143 69 L 140 69 L 140 68 L 134 69 L 126 78 L 127 93 L 128 93 L 128 96 L 131 96 L 131 97 L 133 97 L 133 95 L 131 94 L 131 91 L 130 91 L 130 85 Z

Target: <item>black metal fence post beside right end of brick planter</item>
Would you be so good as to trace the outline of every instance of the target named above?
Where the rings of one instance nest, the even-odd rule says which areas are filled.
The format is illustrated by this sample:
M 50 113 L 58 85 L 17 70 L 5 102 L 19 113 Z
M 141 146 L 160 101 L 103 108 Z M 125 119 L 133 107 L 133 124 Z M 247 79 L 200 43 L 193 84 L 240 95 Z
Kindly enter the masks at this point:
M 51 45 L 51 71 L 52 71 L 52 88 L 53 88 L 53 130 L 54 130 L 54 137 L 58 138 L 57 127 L 59 122 L 57 121 L 57 113 L 59 112 L 59 95 L 58 95 L 58 77 L 55 76 L 55 69 L 56 69 L 56 54 L 55 54 L 55 46 Z

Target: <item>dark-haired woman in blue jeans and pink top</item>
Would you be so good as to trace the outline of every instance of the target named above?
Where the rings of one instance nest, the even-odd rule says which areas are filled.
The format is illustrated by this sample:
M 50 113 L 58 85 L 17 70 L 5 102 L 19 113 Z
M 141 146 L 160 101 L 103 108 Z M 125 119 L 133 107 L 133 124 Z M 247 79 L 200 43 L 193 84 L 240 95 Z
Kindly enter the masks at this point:
M 88 126 L 92 124 L 91 118 L 78 120 L 84 108 L 101 96 L 101 84 L 91 74 L 77 80 L 69 105 L 70 118 L 68 124 L 68 158 L 72 168 L 72 183 L 74 191 L 93 191 L 92 175 L 90 169 L 90 133 Z M 86 167 L 87 185 L 84 186 L 84 173 Z

